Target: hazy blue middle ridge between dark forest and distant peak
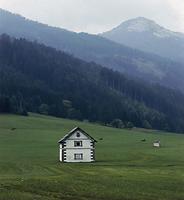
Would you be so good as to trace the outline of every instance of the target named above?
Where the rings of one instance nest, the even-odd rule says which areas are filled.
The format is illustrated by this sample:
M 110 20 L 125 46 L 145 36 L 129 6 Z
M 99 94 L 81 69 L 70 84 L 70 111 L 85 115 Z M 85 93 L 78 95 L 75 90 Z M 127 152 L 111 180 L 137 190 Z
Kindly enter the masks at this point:
M 0 9 L 0 34 L 3 33 L 38 41 L 133 78 L 184 91 L 183 64 L 128 48 L 97 35 L 51 27 Z

